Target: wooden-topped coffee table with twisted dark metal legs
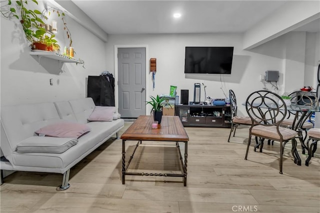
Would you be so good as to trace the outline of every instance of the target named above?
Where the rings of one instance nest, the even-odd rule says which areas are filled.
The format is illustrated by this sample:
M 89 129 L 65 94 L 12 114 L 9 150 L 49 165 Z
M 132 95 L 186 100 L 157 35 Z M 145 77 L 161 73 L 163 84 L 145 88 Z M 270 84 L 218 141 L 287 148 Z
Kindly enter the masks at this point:
M 139 116 L 134 123 L 121 135 L 122 139 L 122 184 L 125 184 L 126 175 L 139 175 L 139 176 L 167 176 L 167 177 L 182 177 L 183 185 L 186 186 L 186 174 L 187 174 L 187 142 L 189 137 L 186 134 L 183 125 L 178 116 L 162 116 L 161 124 L 157 129 L 151 128 L 153 121 L 152 116 Z M 125 165 L 125 141 L 133 140 L 138 141 L 135 145 L 130 159 Z M 133 158 L 134 152 L 142 141 L 172 141 L 178 149 L 180 156 L 182 174 L 167 174 L 167 173 L 133 173 L 127 172 L 129 164 Z M 181 152 L 179 149 L 179 142 L 184 143 L 184 162 L 182 160 Z

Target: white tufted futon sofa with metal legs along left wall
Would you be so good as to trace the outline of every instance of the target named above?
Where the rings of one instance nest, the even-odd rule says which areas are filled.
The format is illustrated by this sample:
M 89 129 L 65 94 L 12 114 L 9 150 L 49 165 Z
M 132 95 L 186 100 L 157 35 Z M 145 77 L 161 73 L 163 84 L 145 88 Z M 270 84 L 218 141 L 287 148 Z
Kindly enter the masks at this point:
M 112 121 L 88 121 L 94 108 L 92 98 L 1 107 L 0 148 L 4 156 L 0 162 L 1 183 L 3 170 L 61 173 L 60 190 L 67 189 L 70 168 L 111 136 L 118 138 L 117 132 L 124 125 L 123 119 L 116 118 Z M 44 126 L 62 121 L 85 124 L 90 131 L 78 139 L 35 134 Z M 30 142 L 31 147 L 26 148 L 31 151 L 22 147 L 19 152 L 23 141 Z

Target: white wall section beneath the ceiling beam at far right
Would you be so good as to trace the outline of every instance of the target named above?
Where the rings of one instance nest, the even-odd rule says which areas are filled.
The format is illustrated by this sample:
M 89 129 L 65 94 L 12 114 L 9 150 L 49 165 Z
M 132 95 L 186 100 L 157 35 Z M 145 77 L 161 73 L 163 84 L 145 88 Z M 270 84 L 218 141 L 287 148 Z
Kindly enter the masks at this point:
M 319 32 L 293 31 L 250 49 L 282 60 L 279 94 L 302 86 L 316 87 L 319 57 Z

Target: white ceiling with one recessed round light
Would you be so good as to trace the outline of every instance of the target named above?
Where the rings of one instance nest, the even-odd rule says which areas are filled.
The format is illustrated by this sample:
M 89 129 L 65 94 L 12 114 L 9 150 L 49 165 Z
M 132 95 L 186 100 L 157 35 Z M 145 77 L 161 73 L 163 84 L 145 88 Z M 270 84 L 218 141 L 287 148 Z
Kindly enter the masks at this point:
M 72 0 L 108 34 L 245 32 L 288 0 Z M 173 18 L 173 13 L 181 13 Z M 320 20 L 295 29 L 317 32 Z

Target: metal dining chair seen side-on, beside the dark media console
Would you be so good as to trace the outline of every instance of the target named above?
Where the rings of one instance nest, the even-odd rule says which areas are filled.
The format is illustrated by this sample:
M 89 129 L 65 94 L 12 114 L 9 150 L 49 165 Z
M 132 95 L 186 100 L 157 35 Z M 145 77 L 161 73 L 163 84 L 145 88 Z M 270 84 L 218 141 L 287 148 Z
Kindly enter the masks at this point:
M 239 125 L 251 126 L 252 121 L 248 116 L 237 116 L 237 106 L 236 98 L 233 90 L 229 90 L 229 99 L 230 99 L 230 109 L 231 109 L 231 129 L 228 137 L 228 142 L 230 142 L 231 133 L 233 132 L 233 137 L 235 135 L 235 130 Z

